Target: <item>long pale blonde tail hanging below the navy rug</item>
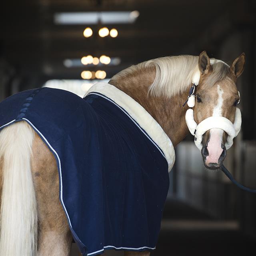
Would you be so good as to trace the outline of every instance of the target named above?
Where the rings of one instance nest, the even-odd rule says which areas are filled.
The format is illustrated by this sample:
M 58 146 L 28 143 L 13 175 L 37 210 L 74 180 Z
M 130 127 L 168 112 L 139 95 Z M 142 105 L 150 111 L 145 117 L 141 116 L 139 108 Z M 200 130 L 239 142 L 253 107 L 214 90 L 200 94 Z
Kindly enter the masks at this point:
M 0 132 L 1 256 L 36 255 L 37 209 L 30 164 L 33 138 L 34 131 L 24 121 Z

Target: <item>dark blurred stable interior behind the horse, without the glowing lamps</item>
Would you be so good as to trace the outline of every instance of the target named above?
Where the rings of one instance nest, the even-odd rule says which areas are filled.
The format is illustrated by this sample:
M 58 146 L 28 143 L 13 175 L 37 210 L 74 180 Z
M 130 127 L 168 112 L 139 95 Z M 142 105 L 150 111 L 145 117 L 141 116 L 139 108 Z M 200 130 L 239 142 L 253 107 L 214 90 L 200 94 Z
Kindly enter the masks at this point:
M 242 131 L 225 164 L 238 181 L 256 188 L 256 1 L 26 0 L 5 1 L 1 9 L 0 100 L 50 79 L 80 79 L 84 68 L 66 68 L 63 61 L 88 54 L 121 59 L 120 65 L 104 69 L 111 78 L 131 64 L 160 56 L 206 50 L 210 58 L 231 64 L 245 52 L 245 71 L 237 83 Z M 124 10 L 138 10 L 140 16 L 134 24 L 106 25 L 118 29 L 117 38 L 96 33 L 84 38 L 86 24 L 54 24 L 56 12 Z M 90 27 L 97 30 L 101 24 Z M 190 138 L 177 147 L 176 158 L 152 255 L 255 252 L 256 195 L 240 191 L 220 172 L 206 171 Z

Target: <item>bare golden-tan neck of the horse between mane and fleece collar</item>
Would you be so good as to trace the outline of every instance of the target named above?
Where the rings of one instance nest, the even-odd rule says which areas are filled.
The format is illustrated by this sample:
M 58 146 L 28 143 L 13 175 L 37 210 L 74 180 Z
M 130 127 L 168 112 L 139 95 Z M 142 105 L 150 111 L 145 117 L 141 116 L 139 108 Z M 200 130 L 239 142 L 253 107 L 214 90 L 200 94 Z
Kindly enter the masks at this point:
M 137 73 L 126 74 L 126 77 L 110 80 L 109 83 L 143 106 L 160 124 L 175 147 L 189 132 L 185 121 L 187 107 L 182 106 L 188 92 L 177 94 L 171 98 L 148 95 L 148 88 L 154 81 L 155 74 L 155 68 L 148 67 Z

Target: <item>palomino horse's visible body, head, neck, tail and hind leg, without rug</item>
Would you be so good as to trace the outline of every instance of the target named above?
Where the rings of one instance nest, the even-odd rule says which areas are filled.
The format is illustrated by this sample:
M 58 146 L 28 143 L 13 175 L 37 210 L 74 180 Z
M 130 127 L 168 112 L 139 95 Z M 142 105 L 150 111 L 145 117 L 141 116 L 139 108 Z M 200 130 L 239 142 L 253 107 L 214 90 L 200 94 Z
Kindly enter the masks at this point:
M 210 59 L 206 52 L 199 57 L 164 57 L 131 66 L 116 74 L 109 84 L 138 102 L 158 122 L 175 147 L 189 131 L 195 133 L 194 123 L 200 124 L 209 117 L 223 117 L 231 124 L 236 122 L 236 105 L 240 100 L 236 79 L 242 74 L 244 63 L 244 54 L 231 66 Z M 188 105 L 193 108 L 194 116 L 190 120 L 191 115 L 188 115 L 187 126 L 188 105 L 183 107 L 182 104 L 192 84 L 193 91 L 189 94 L 192 100 L 189 99 Z M 202 148 L 206 168 L 217 169 L 226 156 L 225 145 L 228 143 L 230 147 L 232 142 L 227 142 L 228 129 L 211 127 L 201 134 L 197 146 Z M 72 235 L 59 200 L 56 158 L 42 136 L 27 122 L 2 127 L 0 170 L 0 255 L 68 256 Z M 134 230 L 134 234 L 136 232 Z M 150 252 L 127 249 L 124 254 L 149 256 Z

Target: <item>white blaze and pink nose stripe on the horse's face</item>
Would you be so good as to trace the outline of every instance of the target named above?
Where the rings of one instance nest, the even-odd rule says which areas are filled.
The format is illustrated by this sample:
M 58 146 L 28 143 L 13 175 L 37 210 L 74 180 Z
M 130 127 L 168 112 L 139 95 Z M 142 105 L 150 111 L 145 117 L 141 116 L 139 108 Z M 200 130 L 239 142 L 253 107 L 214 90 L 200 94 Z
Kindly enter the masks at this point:
M 222 116 L 222 104 L 223 104 L 223 90 L 220 88 L 220 85 L 217 85 L 218 92 L 218 102 L 213 109 L 212 116 Z M 218 163 L 220 155 L 223 152 L 221 148 L 223 137 L 223 130 L 219 128 L 210 129 L 210 140 L 208 142 L 207 150 L 209 155 L 206 156 L 206 164 L 209 163 Z

